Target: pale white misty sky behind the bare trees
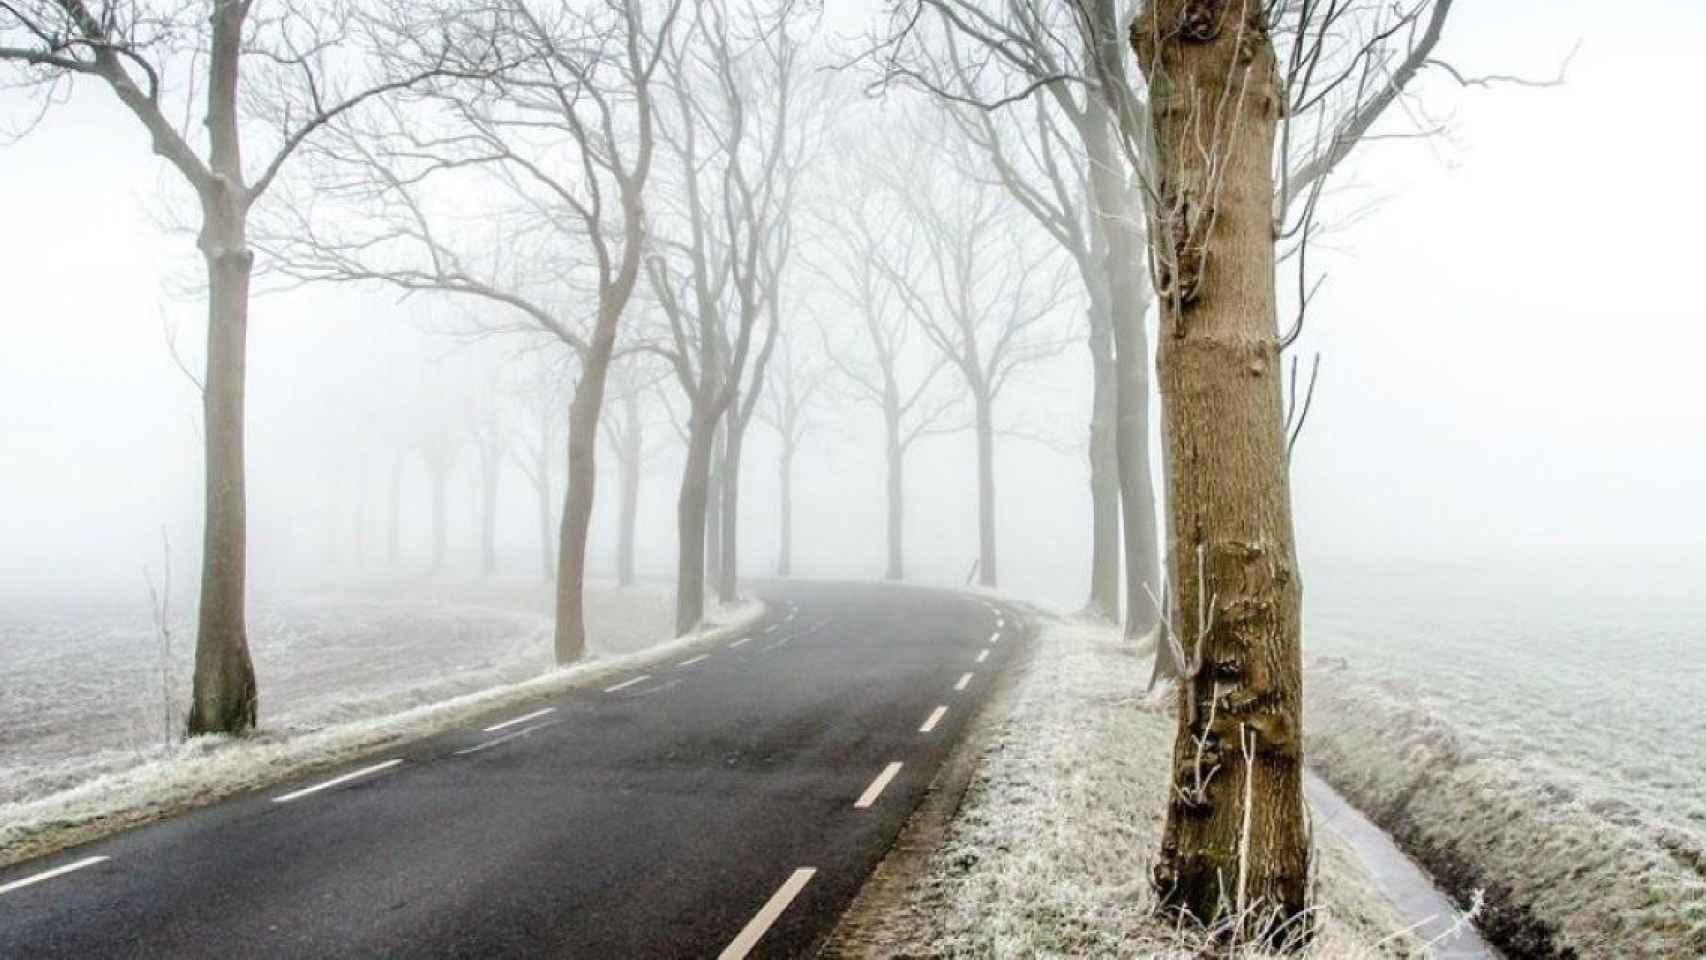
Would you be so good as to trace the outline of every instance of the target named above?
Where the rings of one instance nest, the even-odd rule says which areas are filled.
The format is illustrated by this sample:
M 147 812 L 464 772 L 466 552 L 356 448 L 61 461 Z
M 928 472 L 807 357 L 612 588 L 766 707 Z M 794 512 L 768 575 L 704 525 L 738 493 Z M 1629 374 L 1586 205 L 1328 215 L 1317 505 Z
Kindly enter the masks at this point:
M 851 29 L 858 3 L 827 0 Z M 1447 135 L 1367 145 L 1339 177 L 1331 217 L 1368 208 L 1319 256 L 1329 280 L 1303 356 L 1322 384 L 1295 460 L 1305 564 L 1483 561 L 1581 546 L 1641 556 L 1706 542 L 1706 324 L 1697 293 L 1706 220 L 1692 89 L 1706 10 L 1500 0 L 1454 12 L 1443 53 L 1469 73 L 1544 77 L 1580 39 L 1561 89 L 1421 87 Z M 20 101 L 0 94 L 5 119 Z M 1419 118 L 1428 123 L 1426 118 Z M 1389 131 L 1407 130 L 1389 123 Z M 135 121 L 85 85 L 34 133 L 0 147 L 0 580 L 136 588 L 159 530 L 198 537 L 196 397 L 165 350 L 183 327 L 200 356 L 200 307 L 172 293 L 193 276 L 193 239 L 164 227 L 172 174 Z M 1370 206 L 1372 205 L 1372 206 Z M 1290 275 L 1281 275 L 1290 281 Z M 382 290 L 310 290 L 256 302 L 251 334 L 252 573 L 259 558 L 302 571 L 328 539 L 304 517 L 348 517 L 367 484 L 372 554 L 386 460 L 350 462 L 360 409 L 428 414 L 454 396 L 456 321 L 444 300 Z M 1082 597 L 1088 491 L 1076 454 L 1088 401 L 1082 348 L 1008 399 L 1005 425 L 1059 443 L 1003 440 L 1000 530 L 1007 580 L 1056 602 Z M 432 397 L 437 397 L 432 399 Z M 389 404 L 389 406 L 387 406 Z M 1073 411 L 1078 411 L 1076 414 Z M 880 571 L 882 467 L 875 418 L 827 409 L 800 462 L 802 573 Z M 377 423 L 377 421 L 374 421 Z M 377 426 L 374 426 L 377 430 Z M 660 437 L 667 426 L 659 426 Z M 353 433 L 353 443 L 328 442 Z M 473 452 L 464 459 L 471 462 Z M 964 575 L 976 554 L 969 438 L 923 447 L 911 467 L 914 570 Z M 747 455 L 749 571 L 773 563 L 773 443 Z M 647 474 L 643 566 L 667 570 L 679 455 Z M 367 477 L 351 479 L 351 477 Z M 425 551 L 420 476 L 411 551 Z M 464 477 L 459 483 L 471 483 Z M 536 556 L 527 488 L 505 491 L 505 559 Z M 601 518 L 614 488 L 601 488 Z M 452 505 L 473 551 L 471 496 Z M 595 556 L 607 556 L 606 529 Z M 346 547 L 345 547 L 346 549 Z M 602 551 L 602 554 L 599 552 Z M 1305 568 L 1307 573 L 1307 568 Z M 1636 576 L 1631 571 L 1631 576 Z

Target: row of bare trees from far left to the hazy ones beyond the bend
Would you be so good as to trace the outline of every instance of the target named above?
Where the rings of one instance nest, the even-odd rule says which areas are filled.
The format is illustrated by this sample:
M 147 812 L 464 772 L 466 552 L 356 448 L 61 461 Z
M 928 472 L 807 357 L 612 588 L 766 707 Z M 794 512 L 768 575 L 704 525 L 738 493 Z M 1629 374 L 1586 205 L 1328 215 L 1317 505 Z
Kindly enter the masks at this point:
M 846 138 L 838 114 L 856 113 L 841 109 L 848 97 L 822 70 L 814 32 L 809 5 L 793 0 L 20 0 L 0 9 L 0 61 L 38 94 L 39 116 L 68 84 L 101 84 L 200 211 L 206 522 L 191 733 L 256 723 L 244 627 L 244 372 L 256 276 L 275 288 L 360 283 L 440 295 L 481 317 L 471 333 L 524 344 L 536 361 L 517 390 L 522 418 L 500 416 L 486 397 L 461 426 L 440 418 L 394 457 L 389 551 L 399 551 L 404 464 L 418 455 L 432 477 L 433 558 L 444 563 L 447 477 L 471 448 L 483 491 L 481 564 L 493 570 L 500 476 L 519 466 L 537 494 L 541 566 L 556 578 L 560 662 L 580 658 L 587 645 L 601 433 L 621 467 L 618 570 L 631 581 L 647 455 L 638 397 L 665 384 L 688 448 L 679 631 L 701 621 L 706 588 L 722 600 L 735 595 L 740 462 L 754 418 L 783 440 L 778 566 L 792 568 L 793 452 L 807 408 L 826 396 L 829 367 L 872 390 L 884 411 L 889 575 L 904 570 L 904 450 L 969 428 L 979 452 L 979 570 L 984 583 L 996 581 L 995 409 L 1017 370 L 1063 343 L 1051 324 L 1061 271 L 1015 230 L 1010 208 L 983 182 L 988 164 L 957 140 L 926 136 L 916 118 L 913 143 L 891 138 L 862 152 L 862 176 L 880 200 L 858 217 L 885 223 L 848 232 L 846 211 L 822 200 L 844 191 L 805 198 L 809 182 L 833 182 L 809 181 L 812 164 L 831 136 Z M 261 150 L 261 164 L 244 162 L 246 143 L 249 153 Z M 950 157 L 947 176 L 935 157 Z M 846 256 L 862 228 L 880 251 Z M 841 350 L 850 327 L 839 317 L 805 326 L 805 305 L 822 286 L 843 293 L 836 312 L 863 319 L 851 329 L 868 350 Z M 612 379 L 621 380 L 619 409 L 606 416 Z M 949 389 L 950 379 L 964 389 Z M 566 489 L 561 505 L 558 488 Z

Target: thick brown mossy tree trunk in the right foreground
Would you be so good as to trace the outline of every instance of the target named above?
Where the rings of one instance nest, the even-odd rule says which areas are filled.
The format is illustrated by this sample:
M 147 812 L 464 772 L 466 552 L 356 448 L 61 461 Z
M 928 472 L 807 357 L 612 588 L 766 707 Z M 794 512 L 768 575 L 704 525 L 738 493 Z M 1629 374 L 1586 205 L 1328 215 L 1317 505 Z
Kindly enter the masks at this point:
M 1150 0 L 1131 26 L 1157 148 L 1157 365 L 1172 621 L 1187 660 L 1153 880 L 1162 904 L 1204 922 L 1242 914 L 1247 936 L 1307 928 L 1310 853 L 1274 321 L 1281 94 L 1266 10 Z

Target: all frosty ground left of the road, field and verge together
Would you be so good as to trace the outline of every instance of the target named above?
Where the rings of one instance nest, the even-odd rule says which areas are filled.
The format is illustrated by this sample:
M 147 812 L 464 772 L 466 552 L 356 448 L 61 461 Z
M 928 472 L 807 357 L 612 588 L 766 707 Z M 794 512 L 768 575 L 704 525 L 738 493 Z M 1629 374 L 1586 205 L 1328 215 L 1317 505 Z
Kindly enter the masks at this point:
M 147 818 L 549 694 L 660 650 L 674 626 L 665 588 L 589 588 L 594 660 L 554 670 L 551 597 L 536 583 L 370 581 L 263 600 L 249 621 L 258 735 L 167 745 L 159 636 L 142 607 L 0 614 L 0 861 L 78 820 Z M 711 624 L 761 609 L 717 610 Z M 181 701 L 193 631 L 177 631 Z

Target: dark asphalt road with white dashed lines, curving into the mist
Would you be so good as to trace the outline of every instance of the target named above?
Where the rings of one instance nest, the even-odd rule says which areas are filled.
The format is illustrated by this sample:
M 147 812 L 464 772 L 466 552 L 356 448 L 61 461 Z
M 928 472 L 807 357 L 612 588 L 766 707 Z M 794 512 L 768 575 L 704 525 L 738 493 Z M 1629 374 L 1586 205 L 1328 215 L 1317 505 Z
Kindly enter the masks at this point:
M 1025 627 L 759 593 L 703 658 L 7 868 L 0 957 L 807 957 Z

